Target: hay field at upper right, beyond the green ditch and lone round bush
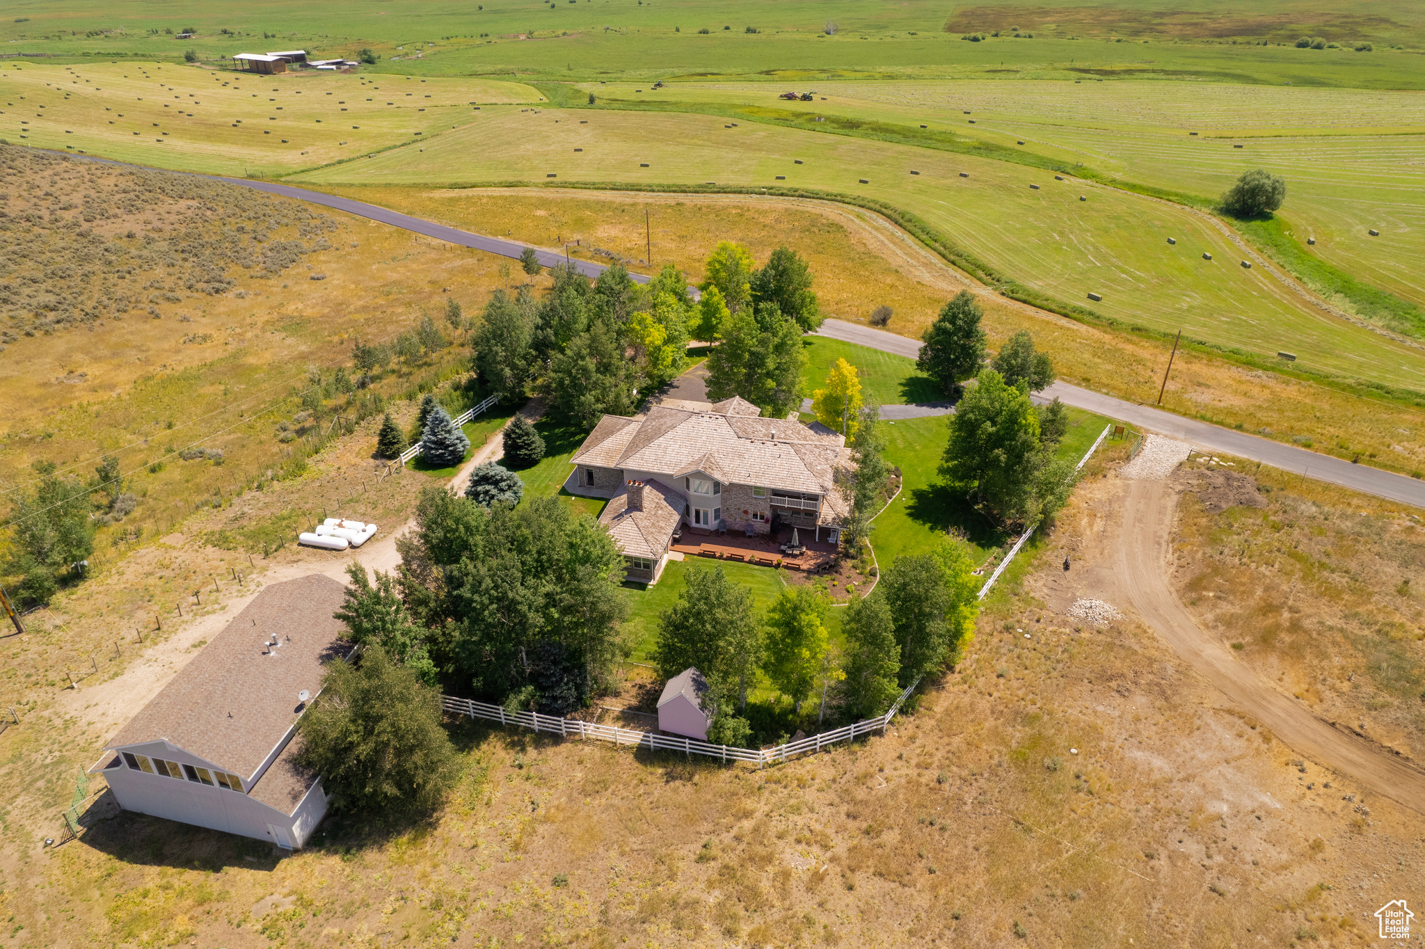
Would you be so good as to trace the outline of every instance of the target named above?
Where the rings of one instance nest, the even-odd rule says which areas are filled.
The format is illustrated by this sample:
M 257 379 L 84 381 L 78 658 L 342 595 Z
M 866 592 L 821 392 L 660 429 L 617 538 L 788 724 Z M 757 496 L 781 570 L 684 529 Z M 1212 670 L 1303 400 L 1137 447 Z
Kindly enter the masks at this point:
M 647 98 L 637 87 L 603 90 Z M 1415 266 L 1425 258 L 1425 93 L 1124 80 L 818 83 L 814 103 L 784 103 L 777 91 L 680 83 L 667 97 L 928 124 L 1016 148 L 1025 141 L 1030 152 L 1207 199 L 1243 171 L 1267 168 L 1287 178 L 1281 215 L 1298 242 L 1315 238 L 1327 262 L 1425 304 Z

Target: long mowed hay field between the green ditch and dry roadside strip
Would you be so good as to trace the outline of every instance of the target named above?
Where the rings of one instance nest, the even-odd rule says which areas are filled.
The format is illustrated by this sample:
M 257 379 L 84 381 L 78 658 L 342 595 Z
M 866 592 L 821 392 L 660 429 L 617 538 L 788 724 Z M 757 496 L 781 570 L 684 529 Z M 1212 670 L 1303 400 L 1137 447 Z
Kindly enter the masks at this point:
M 1181 328 L 1268 358 L 1285 349 L 1300 365 L 1331 373 L 1425 385 L 1425 361 L 1414 349 L 1321 315 L 1260 268 L 1238 266 L 1237 248 L 1181 208 L 1007 162 L 727 124 L 690 114 L 490 108 L 425 151 L 383 152 L 289 180 L 785 184 L 861 194 L 919 214 L 1002 272 L 1060 299 L 1087 302 L 1097 292 L 1103 302 L 1094 309 L 1124 323 Z

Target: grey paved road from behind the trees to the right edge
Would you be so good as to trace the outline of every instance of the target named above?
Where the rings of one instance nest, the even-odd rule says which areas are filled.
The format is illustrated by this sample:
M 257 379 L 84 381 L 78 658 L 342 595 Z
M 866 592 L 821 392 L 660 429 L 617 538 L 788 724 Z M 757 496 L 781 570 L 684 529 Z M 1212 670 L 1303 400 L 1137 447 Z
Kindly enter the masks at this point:
M 871 349 L 895 353 L 898 356 L 915 356 L 921 352 L 918 339 L 906 339 L 881 329 L 846 323 L 839 319 L 828 319 L 821 325 L 819 335 L 831 339 L 841 339 Z M 1072 386 L 1067 382 L 1056 382 L 1043 392 L 1045 398 L 1057 396 L 1064 405 L 1077 409 L 1087 409 L 1110 419 L 1127 422 L 1134 427 L 1157 432 L 1176 439 L 1181 439 L 1194 447 L 1216 455 L 1231 455 L 1245 457 L 1263 465 L 1280 467 L 1284 472 L 1304 474 L 1331 484 L 1349 487 L 1355 492 L 1375 494 L 1387 500 L 1401 502 L 1425 507 L 1425 480 L 1392 474 L 1367 465 L 1352 465 L 1330 455 L 1317 455 L 1305 449 L 1282 445 L 1270 439 L 1224 429 L 1197 419 L 1154 409 L 1123 399 L 1114 399 L 1090 389 Z

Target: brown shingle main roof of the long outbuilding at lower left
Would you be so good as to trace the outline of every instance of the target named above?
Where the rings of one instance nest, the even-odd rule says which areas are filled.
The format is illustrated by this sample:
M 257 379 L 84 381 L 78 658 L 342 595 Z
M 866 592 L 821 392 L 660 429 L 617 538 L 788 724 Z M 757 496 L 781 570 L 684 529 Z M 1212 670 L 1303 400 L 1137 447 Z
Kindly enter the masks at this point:
M 322 574 L 266 587 L 105 748 L 168 741 L 251 778 L 296 721 L 298 693 L 316 695 L 322 665 L 349 651 L 332 617 L 345 590 Z

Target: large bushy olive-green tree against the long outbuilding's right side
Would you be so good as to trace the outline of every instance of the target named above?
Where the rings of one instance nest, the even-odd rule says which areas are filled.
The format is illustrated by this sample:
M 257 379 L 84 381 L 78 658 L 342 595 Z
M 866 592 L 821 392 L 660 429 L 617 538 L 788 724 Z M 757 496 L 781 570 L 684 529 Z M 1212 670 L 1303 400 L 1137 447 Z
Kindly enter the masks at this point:
M 298 759 L 322 775 L 338 811 L 433 811 L 459 775 L 440 694 L 379 644 L 326 664 L 298 720 Z

